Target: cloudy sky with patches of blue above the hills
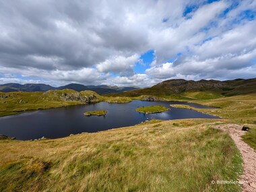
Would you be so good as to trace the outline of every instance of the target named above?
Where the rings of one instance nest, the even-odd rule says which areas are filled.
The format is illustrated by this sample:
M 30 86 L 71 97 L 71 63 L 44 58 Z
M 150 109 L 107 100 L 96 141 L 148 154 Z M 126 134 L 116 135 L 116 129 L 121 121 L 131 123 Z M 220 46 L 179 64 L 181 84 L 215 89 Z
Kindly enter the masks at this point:
M 0 0 L 0 84 L 256 77 L 256 0 Z

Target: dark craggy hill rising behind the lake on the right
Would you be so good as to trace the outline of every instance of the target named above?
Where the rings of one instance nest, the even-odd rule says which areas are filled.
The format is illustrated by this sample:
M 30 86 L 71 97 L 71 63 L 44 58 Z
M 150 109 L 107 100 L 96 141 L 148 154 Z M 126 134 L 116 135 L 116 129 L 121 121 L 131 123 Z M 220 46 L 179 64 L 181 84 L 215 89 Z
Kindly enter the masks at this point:
M 171 79 L 158 83 L 153 87 L 112 94 L 112 96 L 138 97 L 155 95 L 182 99 L 215 99 L 218 97 L 256 93 L 256 79 L 234 79 L 228 81 L 200 80 L 186 81 Z

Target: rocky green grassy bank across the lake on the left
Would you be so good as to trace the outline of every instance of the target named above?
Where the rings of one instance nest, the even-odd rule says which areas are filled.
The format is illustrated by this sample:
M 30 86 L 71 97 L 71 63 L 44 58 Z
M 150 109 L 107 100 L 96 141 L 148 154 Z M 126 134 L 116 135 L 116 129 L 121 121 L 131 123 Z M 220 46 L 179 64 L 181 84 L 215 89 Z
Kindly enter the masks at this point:
M 94 91 L 77 92 L 71 89 L 55 90 L 47 92 L 0 92 L 0 117 L 13 115 L 24 111 L 64 107 L 67 105 L 85 104 L 82 101 L 65 101 L 65 95 L 77 95 L 81 97 L 96 97 L 92 102 L 106 101 L 108 103 L 127 103 L 131 99 L 127 97 L 102 97 Z M 6 97 L 6 98 L 5 98 Z M 64 98 L 64 99 L 63 99 Z

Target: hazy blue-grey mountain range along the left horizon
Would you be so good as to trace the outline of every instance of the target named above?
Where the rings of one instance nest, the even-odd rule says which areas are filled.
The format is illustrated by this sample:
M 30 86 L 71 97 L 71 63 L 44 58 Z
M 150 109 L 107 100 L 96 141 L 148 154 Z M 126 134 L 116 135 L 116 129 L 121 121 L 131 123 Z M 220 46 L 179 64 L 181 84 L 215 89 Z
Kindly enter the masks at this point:
M 18 83 L 7 83 L 0 85 L 0 92 L 13 92 L 13 91 L 26 91 L 26 92 L 34 92 L 34 91 L 49 91 L 49 90 L 62 90 L 62 89 L 73 89 L 75 91 L 85 91 L 91 90 L 96 93 L 108 94 L 108 93 L 122 93 L 124 91 L 130 91 L 133 89 L 139 89 L 137 87 L 117 87 L 117 86 L 108 86 L 108 85 L 81 85 L 76 83 L 71 83 L 69 85 L 61 86 L 61 87 L 52 87 L 51 85 L 45 84 L 25 84 L 20 85 Z

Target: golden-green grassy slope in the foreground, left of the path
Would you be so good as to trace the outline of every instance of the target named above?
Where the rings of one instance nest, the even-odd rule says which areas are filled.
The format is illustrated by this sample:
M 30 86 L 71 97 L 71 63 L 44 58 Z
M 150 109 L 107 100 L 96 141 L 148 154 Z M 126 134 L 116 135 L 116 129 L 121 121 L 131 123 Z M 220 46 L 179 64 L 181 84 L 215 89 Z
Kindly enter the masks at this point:
M 221 122 L 221 120 L 220 120 Z M 211 119 L 0 141 L 0 191 L 239 191 L 241 156 Z

